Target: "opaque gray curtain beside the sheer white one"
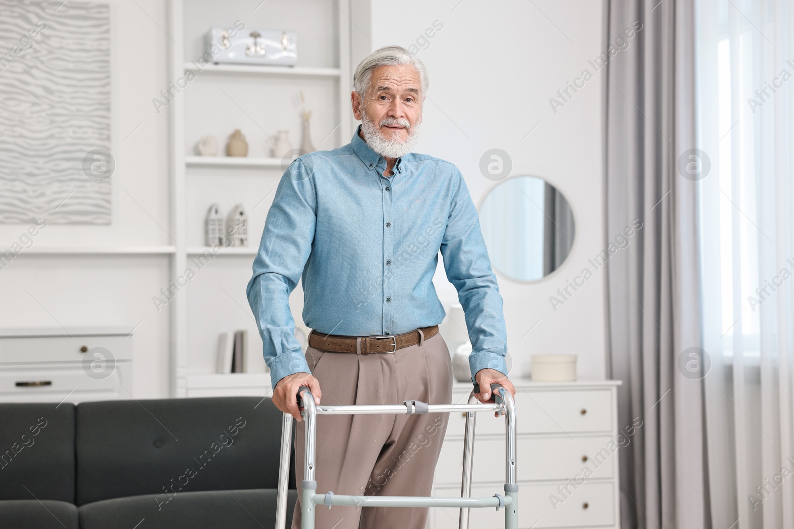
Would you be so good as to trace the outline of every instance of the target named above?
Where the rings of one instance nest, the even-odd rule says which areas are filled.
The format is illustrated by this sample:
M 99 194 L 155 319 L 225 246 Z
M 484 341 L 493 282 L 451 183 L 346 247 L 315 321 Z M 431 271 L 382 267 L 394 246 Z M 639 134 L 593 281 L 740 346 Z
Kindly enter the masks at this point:
M 607 242 L 642 221 L 607 279 L 607 371 L 623 381 L 619 424 L 633 434 L 620 450 L 626 529 L 711 527 L 703 381 L 679 367 L 701 346 L 698 183 L 677 169 L 695 147 L 693 2 L 608 6 L 607 46 L 642 24 L 607 63 Z

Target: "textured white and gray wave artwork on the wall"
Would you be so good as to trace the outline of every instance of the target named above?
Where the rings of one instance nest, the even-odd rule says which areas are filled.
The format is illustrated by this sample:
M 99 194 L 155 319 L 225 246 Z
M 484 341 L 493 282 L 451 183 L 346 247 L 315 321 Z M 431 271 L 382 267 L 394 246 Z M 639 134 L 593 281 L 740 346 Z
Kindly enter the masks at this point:
M 0 13 L 0 224 L 110 224 L 109 6 Z

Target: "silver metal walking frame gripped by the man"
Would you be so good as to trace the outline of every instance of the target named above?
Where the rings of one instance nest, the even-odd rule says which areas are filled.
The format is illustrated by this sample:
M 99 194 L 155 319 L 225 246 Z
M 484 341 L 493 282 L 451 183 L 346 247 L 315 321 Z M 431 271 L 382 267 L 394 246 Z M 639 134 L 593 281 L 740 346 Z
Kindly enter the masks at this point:
M 303 391 L 303 410 L 301 416 L 306 421 L 306 449 L 303 462 L 301 482 L 303 496 L 301 499 L 301 529 L 314 529 L 315 505 L 353 505 L 360 507 L 452 507 L 460 508 L 458 527 L 468 529 L 469 508 L 500 507 L 504 509 L 505 529 L 518 527 L 518 484 L 515 481 L 515 402 L 507 389 L 499 384 L 491 384 L 493 403 L 479 403 L 475 393 L 480 392 L 480 385 L 475 382 L 468 404 L 427 404 L 422 401 L 404 401 L 404 404 L 353 404 L 325 405 L 314 404 L 310 389 L 302 385 L 298 390 L 298 402 L 301 403 L 300 392 Z M 314 481 L 314 453 L 318 415 L 364 415 L 364 414 L 395 414 L 406 413 L 447 413 L 466 412 L 466 437 L 463 449 L 463 477 L 461 480 L 461 497 L 433 496 L 354 496 L 327 492 L 318 494 L 317 481 Z M 497 412 L 505 417 L 505 483 L 504 495 L 494 494 L 491 497 L 472 498 L 472 464 L 474 456 L 474 427 L 476 412 Z M 290 453 L 292 445 L 292 416 L 284 413 L 281 431 L 281 462 L 279 467 L 279 493 L 276 503 L 276 529 L 286 529 L 287 523 L 287 488 L 289 485 Z

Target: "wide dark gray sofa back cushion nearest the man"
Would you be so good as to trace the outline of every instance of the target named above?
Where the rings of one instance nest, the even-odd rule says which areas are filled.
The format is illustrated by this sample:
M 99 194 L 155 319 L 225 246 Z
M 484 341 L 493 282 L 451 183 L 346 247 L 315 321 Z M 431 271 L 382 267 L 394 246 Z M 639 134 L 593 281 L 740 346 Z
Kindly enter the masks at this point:
M 83 402 L 75 422 L 78 505 L 278 487 L 283 413 L 270 398 Z

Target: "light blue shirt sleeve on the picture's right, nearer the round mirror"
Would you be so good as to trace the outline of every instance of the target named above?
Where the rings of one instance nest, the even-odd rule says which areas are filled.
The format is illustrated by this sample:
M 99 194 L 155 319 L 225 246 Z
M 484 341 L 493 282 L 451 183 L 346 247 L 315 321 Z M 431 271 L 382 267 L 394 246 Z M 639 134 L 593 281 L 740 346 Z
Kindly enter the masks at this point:
M 449 282 L 457 289 L 472 341 L 468 358 L 472 381 L 477 371 L 490 368 L 507 376 L 507 331 L 499 284 L 491 270 L 488 248 L 480 229 L 480 217 L 460 171 L 455 171 L 449 218 L 441 241 L 441 257 Z

